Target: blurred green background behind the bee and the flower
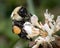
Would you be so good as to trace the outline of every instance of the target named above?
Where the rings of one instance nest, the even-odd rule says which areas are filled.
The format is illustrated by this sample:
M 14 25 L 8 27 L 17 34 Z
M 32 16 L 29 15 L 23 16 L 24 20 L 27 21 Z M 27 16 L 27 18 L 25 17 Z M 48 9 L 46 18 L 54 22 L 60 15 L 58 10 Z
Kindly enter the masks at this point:
M 25 6 L 36 14 L 39 21 L 44 22 L 45 9 L 55 15 L 60 15 L 60 0 L 0 0 L 0 48 L 28 48 L 28 42 L 12 33 L 11 12 L 17 6 Z M 60 35 L 60 33 L 57 33 Z

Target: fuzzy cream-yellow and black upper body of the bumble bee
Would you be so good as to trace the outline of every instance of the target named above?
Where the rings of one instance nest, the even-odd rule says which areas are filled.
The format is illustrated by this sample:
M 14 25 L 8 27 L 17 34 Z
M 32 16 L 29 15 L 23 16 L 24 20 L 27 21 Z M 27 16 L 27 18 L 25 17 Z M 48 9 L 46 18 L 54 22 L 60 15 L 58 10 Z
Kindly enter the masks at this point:
M 12 20 L 16 20 L 16 21 L 21 21 L 22 19 L 29 19 L 29 15 L 27 12 L 27 9 L 25 7 L 16 7 L 12 14 L 11 14 L 11 18 Z

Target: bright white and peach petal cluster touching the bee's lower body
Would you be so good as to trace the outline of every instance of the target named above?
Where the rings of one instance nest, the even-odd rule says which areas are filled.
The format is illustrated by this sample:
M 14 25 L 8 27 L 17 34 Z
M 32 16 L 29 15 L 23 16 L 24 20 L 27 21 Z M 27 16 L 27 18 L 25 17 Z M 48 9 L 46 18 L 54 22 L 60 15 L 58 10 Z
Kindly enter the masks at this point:
M 39 29 L 35 28 L 30 22 L 25 22 L 23 29 L 28 34 L 27 35 L 28 38 L 33 38 L 39 35 Z

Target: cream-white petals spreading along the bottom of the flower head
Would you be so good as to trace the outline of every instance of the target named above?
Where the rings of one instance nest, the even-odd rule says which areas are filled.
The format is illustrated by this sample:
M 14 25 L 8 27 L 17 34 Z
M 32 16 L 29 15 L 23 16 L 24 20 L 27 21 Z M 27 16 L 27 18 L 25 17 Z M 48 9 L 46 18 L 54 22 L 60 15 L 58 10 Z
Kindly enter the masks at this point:
M 45 38 L 39 36 L 36 38 L 35 42 L 37 42 L 32 48 L 38 48 L 40 44 L 43 44 L 44 42 L 47 42 L 50 45 L 50 42 L 54 41 L 55 38 L 52 36 L 47 36 Z

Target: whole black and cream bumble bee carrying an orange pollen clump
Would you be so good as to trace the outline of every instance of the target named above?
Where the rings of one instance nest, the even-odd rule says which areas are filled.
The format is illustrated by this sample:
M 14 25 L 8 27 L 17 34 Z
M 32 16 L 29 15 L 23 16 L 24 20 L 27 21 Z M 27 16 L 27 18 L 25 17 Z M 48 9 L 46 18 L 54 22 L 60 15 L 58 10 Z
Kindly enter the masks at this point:
M 11 14 L 12 31 L 21 38 L 29 39 L 26 36 L 27 35 L 26 31 L 23 29 L 23 24 L 26 21 L 30 22 L 31 16 L 32 15 L 28 13 L 25 7 L 23 6 L 16 7 Z M 32 40 L 32 39 L 30 38 L 29 40 Z

